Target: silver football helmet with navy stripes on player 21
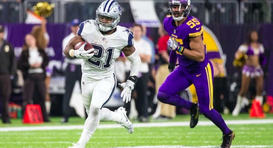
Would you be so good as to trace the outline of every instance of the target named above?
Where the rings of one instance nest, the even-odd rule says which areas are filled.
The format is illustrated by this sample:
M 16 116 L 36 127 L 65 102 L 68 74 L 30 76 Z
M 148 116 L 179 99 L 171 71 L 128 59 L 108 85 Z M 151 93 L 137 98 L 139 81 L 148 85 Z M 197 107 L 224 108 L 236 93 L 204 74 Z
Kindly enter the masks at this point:
M 120 5 L 114 0 L 106 0 L 99 5 L 96 11 L 96 24 L 100 31 L 106 32 L 117 27 L 120 22 Z M 104 23 L 100 20 L 106 19 L 111 23 Z

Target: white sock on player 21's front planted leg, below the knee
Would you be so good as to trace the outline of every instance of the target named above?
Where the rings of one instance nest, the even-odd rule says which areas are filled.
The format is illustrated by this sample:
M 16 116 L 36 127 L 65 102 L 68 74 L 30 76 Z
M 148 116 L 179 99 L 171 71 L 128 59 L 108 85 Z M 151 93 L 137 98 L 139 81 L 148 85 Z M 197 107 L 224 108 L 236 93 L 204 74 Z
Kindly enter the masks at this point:
M 98 124 L 100 122 L 100 114 L 101 109 L 99 108 L 90 108 L 89 114 L 87 119 L 85 120 L 82 135 L 80 137 L 80 140 L 77 142 L 81 146 L 85 146 L 86 143 L 89 141 L 89 139 L 94 134 L 95 130 L 98 127 Z

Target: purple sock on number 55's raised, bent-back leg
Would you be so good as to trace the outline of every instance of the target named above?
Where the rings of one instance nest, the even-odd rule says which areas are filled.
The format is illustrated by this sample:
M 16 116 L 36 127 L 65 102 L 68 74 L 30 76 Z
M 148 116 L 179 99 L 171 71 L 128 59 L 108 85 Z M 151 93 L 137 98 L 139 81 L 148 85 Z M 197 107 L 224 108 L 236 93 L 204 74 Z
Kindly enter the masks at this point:
M 193 104 L 192 102 L 181 98 L 179 95 L 172 96 L 172 95 L 166 94 L 164 92 L 160 92 L 160 91 L 157 94 L 157 98 L 159 101 L 161 101 L 163 103 L 183 107 L 188 110 L 191 108 L 191 105 Z

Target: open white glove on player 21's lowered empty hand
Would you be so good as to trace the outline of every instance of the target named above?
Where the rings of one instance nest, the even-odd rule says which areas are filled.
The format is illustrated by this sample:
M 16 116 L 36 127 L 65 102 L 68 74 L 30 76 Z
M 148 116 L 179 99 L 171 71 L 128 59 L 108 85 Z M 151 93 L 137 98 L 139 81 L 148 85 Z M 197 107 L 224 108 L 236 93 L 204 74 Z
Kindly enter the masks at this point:
M 123 101 L 126 101 L 126 103 L 131 101 L 131 93 L 132 90 L 134 89 L 135 83 L 131 80 L 127 80 L 124 83 L 118 83 L 120 87 L 123 87 L 123 91 L 121 92 L 120 97 L 123 98 Z

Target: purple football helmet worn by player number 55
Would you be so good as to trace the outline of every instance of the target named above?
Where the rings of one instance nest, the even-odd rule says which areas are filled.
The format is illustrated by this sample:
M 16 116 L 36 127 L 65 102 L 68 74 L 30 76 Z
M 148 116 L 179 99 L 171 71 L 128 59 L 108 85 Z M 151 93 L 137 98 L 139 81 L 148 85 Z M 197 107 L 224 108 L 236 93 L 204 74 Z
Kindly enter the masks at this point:
M 191 0 L 169 0 L 169 13 L 175 21 L 180 21 L 190 13 Z

